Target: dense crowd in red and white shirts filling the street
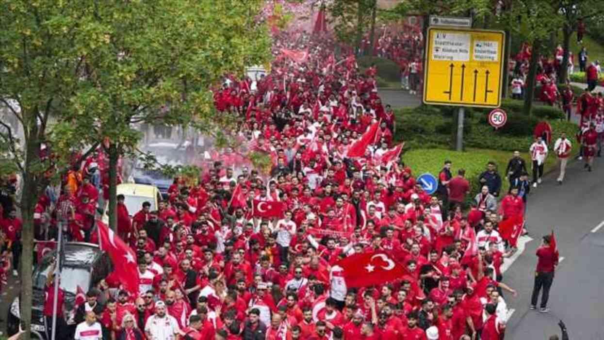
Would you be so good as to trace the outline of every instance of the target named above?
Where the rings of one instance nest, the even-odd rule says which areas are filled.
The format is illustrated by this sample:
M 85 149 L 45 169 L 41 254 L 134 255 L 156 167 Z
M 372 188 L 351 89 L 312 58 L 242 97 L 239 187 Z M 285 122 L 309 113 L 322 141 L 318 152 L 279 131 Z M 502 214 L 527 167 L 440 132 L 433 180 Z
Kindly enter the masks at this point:
M 472 199 L 464 170 L 454 175 L 443 160 L 438 190 L 426 194 L 413 164 L 400 161 L 376 69 L 360 72 L 353 54 L 333 54 L 335 45 L 329 36 L 276 36 L 278 57 L 253 89 L 251 79 L 228 77 L 215 91 L 217 110 L 242 121 L 233 132 L 240 149 L 218 153 L 193 184 L 176 178 L 157 210 L 144 202 L 127 211 L 118 196 L 117 232 L 138 255 L 139 290 L 112 275 L 91 283 L 77 307 L 75 339 L 503 338 L 503 294 L 516 295 L 503 282 L 514 246 L 503 225 L 524 214 L 524 163 L 510 161 L 509 193 L 489 164 Z M 283 50 L 304 53 L 281 57 Z M 361 154 L 351 156 L 359 143 Z M 268 155 L 270 170 L 216 161 L 243 162 L 250 153 Z M 74 164 L 59 196 L 40 197 L 36 239 L 56 239 L 66 221 L 69 239 L 98 242 L 107 175 L 102 149 Z M 2 183 L 0 225 L 10 251 L 4 274 L 18 275 L 14 184 Z M 259 202 L 280 208 L 260 216 Z M 338 261 L 364 252 L 385 254 L 406 272 L 347 287 Z M 53 316 L 48 299 L 44 313 Z

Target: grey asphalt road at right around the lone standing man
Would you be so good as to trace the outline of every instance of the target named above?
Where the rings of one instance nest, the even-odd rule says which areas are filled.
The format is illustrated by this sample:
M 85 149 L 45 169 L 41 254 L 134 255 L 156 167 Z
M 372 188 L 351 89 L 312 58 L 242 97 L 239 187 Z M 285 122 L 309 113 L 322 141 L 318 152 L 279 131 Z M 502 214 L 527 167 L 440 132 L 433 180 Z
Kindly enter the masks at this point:
M 571 340 L 604 339 L 604 161 L 596 158 L 593 172 L 583 162 L 567 168 L 563 185 L 557 173 L 545 181 L 528 201 L 527 223 L 534 239 L 525 243 L 524 253 L 504 274 L 504 282 L 516 289 L 518 297 L 505 295 L 515 309 L 507 324 L 506 339 L 538 340 L 559 334 L 557 322 L 564 320 Z M 602 224 L 600 224 L 602 223 Z M 596 229 L 599 226 L 602 229 Z M 552 228 L 562 259 L 550 291 L 550 313 L 529 310 L 541 236 Z M 594 230 L 594 233 L 591 231 Z M 541 301 L 541 300 L 539 300 Z

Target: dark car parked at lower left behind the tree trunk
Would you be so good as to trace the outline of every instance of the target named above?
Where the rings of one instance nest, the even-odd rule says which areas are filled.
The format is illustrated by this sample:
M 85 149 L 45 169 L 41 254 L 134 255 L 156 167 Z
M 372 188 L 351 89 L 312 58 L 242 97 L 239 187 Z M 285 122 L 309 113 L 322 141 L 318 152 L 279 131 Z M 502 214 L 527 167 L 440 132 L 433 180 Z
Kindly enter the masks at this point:
M 98 245 L 84 242 L 68 242 L 62 249 L 62 269 L 60 274 L 60 287 L 65 292 L 65 321 L 71 333 L 76 331 L 74 320 L 76 309 L 77 287 L 88 292 L 100 280 L 107 277 L 113 270 L 111 259 L 106 252 L 101 251 Z M 32 275 L 33 301 L 31 310 L 31 336 L 32 339 L 48 340 L 51 338 L 45 326 L 43 315 L 45 300 L 45 285 L 47 275 L 51 270 L 56 251 L 48 252 L 34 267 Z M 7 333 L 9 336 L 19 331 L 21 322 L 21 306 L 19 297 L 14 298 L 10 304 L 7 316 Z M 73 338 L 73 337 L 71 337 Z

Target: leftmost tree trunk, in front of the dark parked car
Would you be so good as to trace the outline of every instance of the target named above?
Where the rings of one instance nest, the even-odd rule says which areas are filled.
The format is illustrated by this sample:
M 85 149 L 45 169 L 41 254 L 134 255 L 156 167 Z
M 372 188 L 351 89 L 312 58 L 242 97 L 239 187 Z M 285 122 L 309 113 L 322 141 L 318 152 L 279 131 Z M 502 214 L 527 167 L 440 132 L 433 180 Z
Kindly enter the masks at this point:
M 40 143 L 38 140 L 36 115 L 24 114 L 25 132 L 25 164 L 23 175 L 23 188 L 21 195 L 21 218 L 23 228 L 21 231 L 21 295 L 19 300 L 19 312 L 24 329 L 27 330 L 22 339 L 31 339 L 31 303 L 32 303 L 32 279 L 33 274 L 33 249 L 34 249 L 34 207 L 37 204 L 38 185 L 33 167 L 39 158 Z M 33 118 L 31 118 L 33 117 Z M 15 268 L 17 269 L 17 268 Z M 7 301 L 8 302 L 8 301 Z

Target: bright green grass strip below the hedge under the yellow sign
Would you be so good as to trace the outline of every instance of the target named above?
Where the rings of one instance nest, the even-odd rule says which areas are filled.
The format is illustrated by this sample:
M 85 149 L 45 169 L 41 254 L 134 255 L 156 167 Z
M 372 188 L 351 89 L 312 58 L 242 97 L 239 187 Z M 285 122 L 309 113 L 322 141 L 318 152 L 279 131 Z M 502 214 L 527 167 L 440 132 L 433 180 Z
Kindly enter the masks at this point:
M 576 149 L 576 148 L 575 148 Z M 578 150 L 574 150 L 574 155 Z M 472 186 L 472 197 L 478 192 L 480 187 L 478 176 L 486 170 L 487 162 L 493 161 L 497 165 L 497 170 L 501 175 L 503 182 L 502 193 L 507 193 L 509 182 L 504 178 L 504 171 L 507 167 L 507 162 L 512 157 L 512 152 L 489 150 L 489 149 L 467 149 L 465 152 L 457 152 L 446 149 L 414 149 L 405 152 L 402 156 L 405 165 L 411 167 L 414 176 L 422 175 L 429 172 L 434 176 L 438 176 L 443 168 L 445 159 L 452 162 L 452 174 L 457 175 L 457 170 L 464 168 L 466 170 L 466 179 Z M 527 161 L 529 178 L 532 176 L 530 169 L 530 155 L 528 152 L 521 152 L 521 157 Z M 550 172 L 556 169 L 556 158 L 550 153 L 545 161 L 544 172 Z M 500 195 L 500 197 L 503 197 Z

